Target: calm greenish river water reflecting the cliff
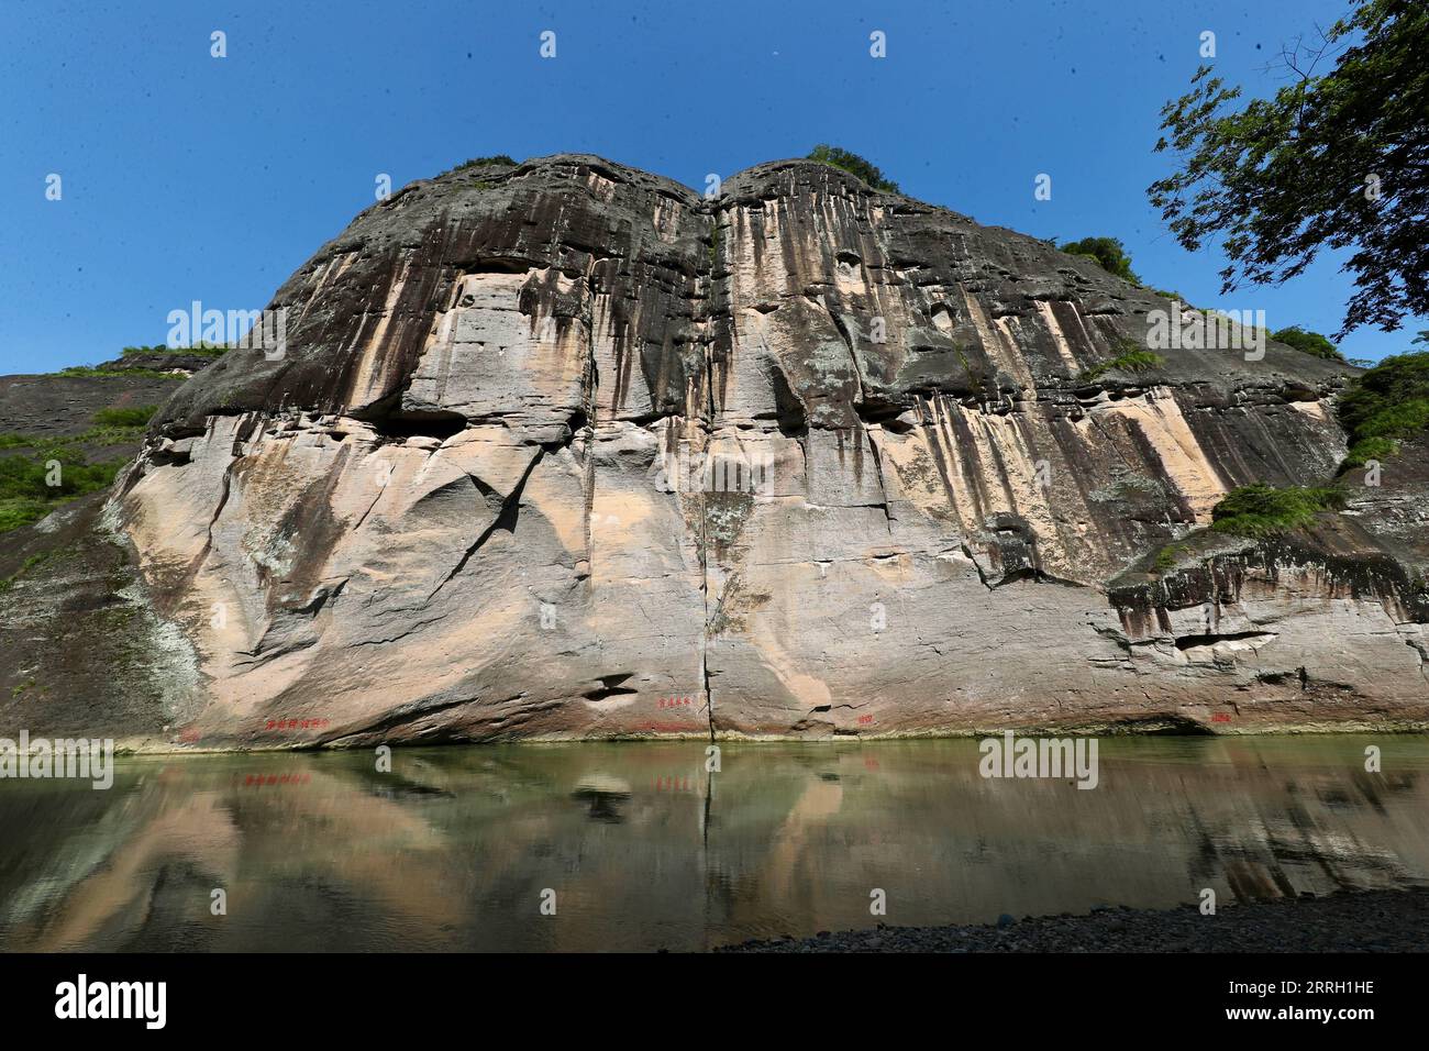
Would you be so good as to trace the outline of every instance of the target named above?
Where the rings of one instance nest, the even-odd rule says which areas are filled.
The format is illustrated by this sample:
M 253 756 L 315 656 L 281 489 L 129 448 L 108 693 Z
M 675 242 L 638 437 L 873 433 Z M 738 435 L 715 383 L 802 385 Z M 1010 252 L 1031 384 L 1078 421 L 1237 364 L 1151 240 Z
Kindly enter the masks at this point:
M 699 949 L 1429 884 L 1425 736 L 1103 739 L 1093 791 L 977 759 L 972 741 L 725 745 L 706 774 L 700 744 L 580 744 L 397 751 L 393 774 L 370 752 L 133 758 L 107 792 L 0 781 L 0 948 Z

